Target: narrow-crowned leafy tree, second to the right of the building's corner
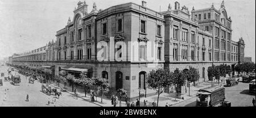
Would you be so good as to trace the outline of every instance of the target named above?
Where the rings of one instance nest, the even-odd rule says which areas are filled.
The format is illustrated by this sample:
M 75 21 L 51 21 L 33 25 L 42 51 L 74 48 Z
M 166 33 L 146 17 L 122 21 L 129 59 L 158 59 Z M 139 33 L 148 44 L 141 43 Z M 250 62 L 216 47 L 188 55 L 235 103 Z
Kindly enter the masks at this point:
M 174 73 L 170 73 L 171 75 L 171 84 L 175 86 L 175 100 L 177 98 L 176 93 L 177 93 L 177 85 L 183 85 L 185 82 L 185 79 L 181 77 L 181 72 L 178 68 L 174 70 Z

